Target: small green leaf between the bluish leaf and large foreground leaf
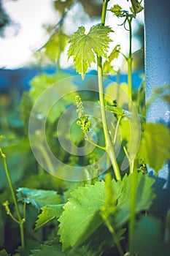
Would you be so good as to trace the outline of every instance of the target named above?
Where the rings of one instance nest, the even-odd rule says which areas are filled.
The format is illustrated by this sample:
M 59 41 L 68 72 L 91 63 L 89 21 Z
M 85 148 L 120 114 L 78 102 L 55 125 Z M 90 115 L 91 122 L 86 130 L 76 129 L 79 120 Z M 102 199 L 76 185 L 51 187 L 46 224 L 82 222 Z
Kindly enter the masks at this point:
M 52 219 L 59 218 L 63 212 L 63 206 L 64 205 L 61 204 L 42 207 L 42 212 L 38 215 L 38 219 L 36 220 L 35 230 L 38 230 L 39 227 L 44 226 Z

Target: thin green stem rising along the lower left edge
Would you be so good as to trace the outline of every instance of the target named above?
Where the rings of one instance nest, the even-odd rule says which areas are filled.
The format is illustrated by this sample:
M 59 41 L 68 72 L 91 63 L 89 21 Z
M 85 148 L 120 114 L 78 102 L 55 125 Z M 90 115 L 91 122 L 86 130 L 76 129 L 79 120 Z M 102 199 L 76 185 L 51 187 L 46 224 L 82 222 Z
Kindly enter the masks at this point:
M 25 219 L 22 219 L 22 217 L 20 216 L 20 210 L 18 208 L 17 199 L 16 199 L 16 196 L 15 196 L 14 188 L 12 186 L 12 180 L 11 180 L 11 177 L 9 175 L 9 170 L 8 170 L 8 167 L 7 167 L 7 156 L 6 156 L 6 154 L 4 154 L 2 152 L 1 148 L 0 148 L 0 153 L 1 153 L 1 157 L 4 160 L 4 169 L 5 169 L 5 173 L 6 173 L 6 176 L 7 176 L 7 181 L 9 183 L 9 188 L 11 190 L 12 199 L 13 199 L 13 202 L 15 204 L 15 209 L 16 209 L 16 212 L 17 212 L 17 215 L 18 215 L 18 222 L 19 222 L 18 224 L 20 225 L 21 246 L 24 248 L 25 247 L 25 241 L 24 241 L 23 222 L 25 221 Z

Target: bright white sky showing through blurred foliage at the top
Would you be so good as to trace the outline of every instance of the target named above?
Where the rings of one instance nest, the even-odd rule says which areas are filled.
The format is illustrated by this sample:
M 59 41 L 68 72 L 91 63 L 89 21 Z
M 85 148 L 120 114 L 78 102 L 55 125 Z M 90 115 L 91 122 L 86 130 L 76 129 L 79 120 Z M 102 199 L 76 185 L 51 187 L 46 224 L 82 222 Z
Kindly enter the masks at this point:
M 7 27 L 6 37 L 0 37 L 0 68 L 16 69 L 24 67 L 31 63 L 33 52 L 47 42 L 48 37 L 43 25 L 57 23 L 59 16 L 53 8 L 53 0 L 3 0 L 2 2 L 7 14 L 14 21 L 14 25 Z M 121 6 L 128 4 L 125 0 L 119 0 L 118 2 L 122 2 Z M 89 23 L 88 15 L 83 14 L 81 8 L 80 5 L 75 5 L 73 10 L 69 11 L 66 17 L 66 23 L 69 24 L 69 26 L 66 26 L 66 33 L 72 34 L 78 26 L 82 25 L 88 30 L 90 26 L 98 23 L 98 20 Z M 75 15 L 75 13 L 78 15 Z M 138 15 L 138 20 L 143 20 L 142 13 Z M 111 36 L 114 41 L 113 44 L 122 45 L 123 52 L 126 53 L 128 32 L 125 32 L 123 26 L 117 26 L 117 18 L 114 18 L 109 12 L 107 22 L 115 31 Z M 15 31 L 18 31 L 16 35 Z M 135 40 L 133 45 L 134 50 L 139 48 L 139 42 Z M 72 60 L 67 62 L 66 52 L 63 53 L 62 59 L 61 67 L 68 67 L 72 64 Z

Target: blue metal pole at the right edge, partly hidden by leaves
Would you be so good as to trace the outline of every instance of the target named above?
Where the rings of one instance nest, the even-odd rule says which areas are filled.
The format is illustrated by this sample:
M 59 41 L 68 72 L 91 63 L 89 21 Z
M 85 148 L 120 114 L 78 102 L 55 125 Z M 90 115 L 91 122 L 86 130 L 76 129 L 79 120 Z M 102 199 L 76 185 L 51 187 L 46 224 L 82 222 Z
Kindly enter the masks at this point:
M 144 1 L 145 33 L 145 78 L 146 100 L 152 97 L 152 91 L 165 84 L 170 84 L 170 1 Z M 166 102 L 155 99 L 147 110 L 147 121 L 163 121 L 170 124 L 170 109 Z M 160 176 L 168 178 L 169 167 L 166 165 Z

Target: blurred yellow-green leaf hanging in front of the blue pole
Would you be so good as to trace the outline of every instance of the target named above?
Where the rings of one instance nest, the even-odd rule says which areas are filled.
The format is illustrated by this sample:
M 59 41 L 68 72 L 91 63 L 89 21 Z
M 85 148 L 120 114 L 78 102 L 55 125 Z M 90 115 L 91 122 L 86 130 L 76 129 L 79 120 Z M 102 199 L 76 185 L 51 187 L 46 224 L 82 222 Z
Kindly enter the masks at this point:
M 141 140 L 139 154 L 155 170 L 156 175 L 169 159 L 170 134 L 163 124 L 147 123 Z

